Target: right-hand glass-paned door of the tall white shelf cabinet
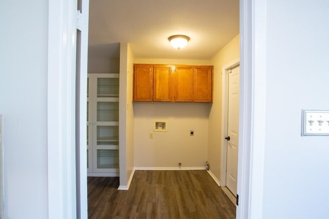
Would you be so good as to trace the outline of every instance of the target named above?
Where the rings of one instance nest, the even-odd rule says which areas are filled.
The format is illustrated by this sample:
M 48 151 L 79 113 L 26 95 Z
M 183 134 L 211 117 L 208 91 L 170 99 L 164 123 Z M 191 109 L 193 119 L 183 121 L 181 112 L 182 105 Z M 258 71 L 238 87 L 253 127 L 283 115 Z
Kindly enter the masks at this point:
M 97 77 L 93 104 L 93 172 L 119 169 L 119 75 Z

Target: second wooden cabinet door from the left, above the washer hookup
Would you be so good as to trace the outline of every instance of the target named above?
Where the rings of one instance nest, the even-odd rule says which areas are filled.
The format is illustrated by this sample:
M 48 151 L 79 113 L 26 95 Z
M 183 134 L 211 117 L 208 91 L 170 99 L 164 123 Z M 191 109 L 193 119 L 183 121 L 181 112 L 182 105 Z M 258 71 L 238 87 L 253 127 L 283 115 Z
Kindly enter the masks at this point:
M 171 66 L 154 66 L 153 101 L 171 102 L 172 76 Z

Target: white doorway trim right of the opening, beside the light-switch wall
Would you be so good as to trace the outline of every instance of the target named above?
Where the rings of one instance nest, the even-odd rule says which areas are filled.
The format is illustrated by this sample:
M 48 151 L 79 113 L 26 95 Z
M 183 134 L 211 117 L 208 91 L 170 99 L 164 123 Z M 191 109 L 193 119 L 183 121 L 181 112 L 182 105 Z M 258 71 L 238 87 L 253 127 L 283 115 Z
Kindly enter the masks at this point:
M 240 121 L 236 218 L 261 219 L 263 210 L 266 1 L 240 0 Z

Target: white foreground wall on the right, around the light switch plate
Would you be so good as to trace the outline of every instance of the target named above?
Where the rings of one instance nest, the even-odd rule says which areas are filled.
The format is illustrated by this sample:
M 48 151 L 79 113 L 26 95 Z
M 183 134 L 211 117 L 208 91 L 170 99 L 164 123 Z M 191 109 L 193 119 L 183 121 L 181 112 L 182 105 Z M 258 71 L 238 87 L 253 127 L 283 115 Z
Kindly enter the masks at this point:
M 263 218 L 327 218 L 329 136 L 302 137 L 301 110 L 329 110 L 329 2 L 266 9 Z

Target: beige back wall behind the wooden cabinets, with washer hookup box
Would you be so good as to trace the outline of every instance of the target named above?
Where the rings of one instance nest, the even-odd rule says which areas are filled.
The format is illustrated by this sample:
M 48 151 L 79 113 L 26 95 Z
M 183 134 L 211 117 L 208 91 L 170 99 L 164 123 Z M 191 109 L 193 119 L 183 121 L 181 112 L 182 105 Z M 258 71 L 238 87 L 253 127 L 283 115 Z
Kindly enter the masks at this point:
M 209 65 L 207 60 L 184 59 L 135 59 L 135 63 Z M 134 114 L 135 167 L 178 168 L 178 162 L 181 168 L 204 167 L 209 103 L 135 102 Z M 155 119 L 168 120 L 168 132 L 153 131 Z

